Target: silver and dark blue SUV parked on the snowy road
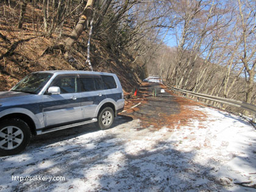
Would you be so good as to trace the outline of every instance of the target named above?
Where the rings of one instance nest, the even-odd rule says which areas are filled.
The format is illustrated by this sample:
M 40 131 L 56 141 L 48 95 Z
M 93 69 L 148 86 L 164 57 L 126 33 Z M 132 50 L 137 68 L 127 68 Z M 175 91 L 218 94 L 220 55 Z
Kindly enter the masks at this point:
M 33 135 L 96 123 L 108 129 L 124 108 L 118 77 L 90 71 L 40 71 L 0 92 L 0 155 L 23 151 Z

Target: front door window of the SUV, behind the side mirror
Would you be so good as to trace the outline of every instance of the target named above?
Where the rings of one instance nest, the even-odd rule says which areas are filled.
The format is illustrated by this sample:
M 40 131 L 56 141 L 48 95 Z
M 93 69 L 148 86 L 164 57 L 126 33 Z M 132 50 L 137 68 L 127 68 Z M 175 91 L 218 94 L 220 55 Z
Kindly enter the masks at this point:
M 77 92 L 77 77 L 76 76 L 59 76 L 56 77 L 51 85 L 60 87 L 60 93 L 76 93 Z

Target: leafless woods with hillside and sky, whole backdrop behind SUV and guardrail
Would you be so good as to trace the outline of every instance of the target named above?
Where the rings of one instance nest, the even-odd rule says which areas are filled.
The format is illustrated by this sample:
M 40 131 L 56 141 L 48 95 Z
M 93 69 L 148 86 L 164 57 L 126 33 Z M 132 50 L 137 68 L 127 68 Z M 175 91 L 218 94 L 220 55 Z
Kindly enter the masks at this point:
M 91 63 L 94 70 L 126 74 L 126 80 L 135 73 L 158 74 L 178 88 L 256 103 L 255 0 L 5 0 L 0 5 L 2 79 L 15 79 L 31 66 L 30 71 L 88 70 Z M 25 44 L 38 54 L 30 57 Z M 57 59 L 65 66 L 51 64 Z M 22 65 L 17 69 L 9 62 Z M 10 87 L 19 78 L 1 82 Z

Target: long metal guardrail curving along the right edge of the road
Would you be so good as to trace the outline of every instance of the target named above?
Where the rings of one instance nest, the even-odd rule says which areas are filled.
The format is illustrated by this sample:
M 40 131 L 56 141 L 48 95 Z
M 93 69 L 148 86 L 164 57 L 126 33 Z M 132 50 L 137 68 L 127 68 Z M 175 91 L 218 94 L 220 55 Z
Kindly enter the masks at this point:
M 243 101 L 236 101 L 233 99 L 220 98 L 220 97 L 212 96 L 212 95 L 208 95 L 208 94 L 194 93 L 193 91 L 182 90 L 180 88 L 172 87 L 171 85 L 167 84 L 164 81 L 163 81 L 163 84 L 172 90 L 179 91 L 181 93 L 185 93 L 185 94 L 187 94 L 187 96 L 189 96 L 189 95 L 196 96 L 197 98 L 208 99 L 210 101 L 215 101 L 215 102 L 219 102 L 221 104 L 226 104 L 226 105 L 230 105 L 232 107 L 238 107 L 243 110 L 247 110 L 252 113 L 252 122 L 256 123 L 256 121 L 255 121 L 256 106 L 255 105 L 248 104 L 247 102 L 243 102 Z

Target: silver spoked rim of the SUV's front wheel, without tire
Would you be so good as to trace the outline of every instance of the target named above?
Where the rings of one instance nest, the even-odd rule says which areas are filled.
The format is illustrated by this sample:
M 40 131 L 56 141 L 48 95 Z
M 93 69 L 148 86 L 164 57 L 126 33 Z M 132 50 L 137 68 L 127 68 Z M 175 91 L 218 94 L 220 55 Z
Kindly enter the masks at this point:
M 23 131 L 19 127 L 7 126 L 0 130 L 0 148 L 12 150 L 18 148 L 24 139 Z

